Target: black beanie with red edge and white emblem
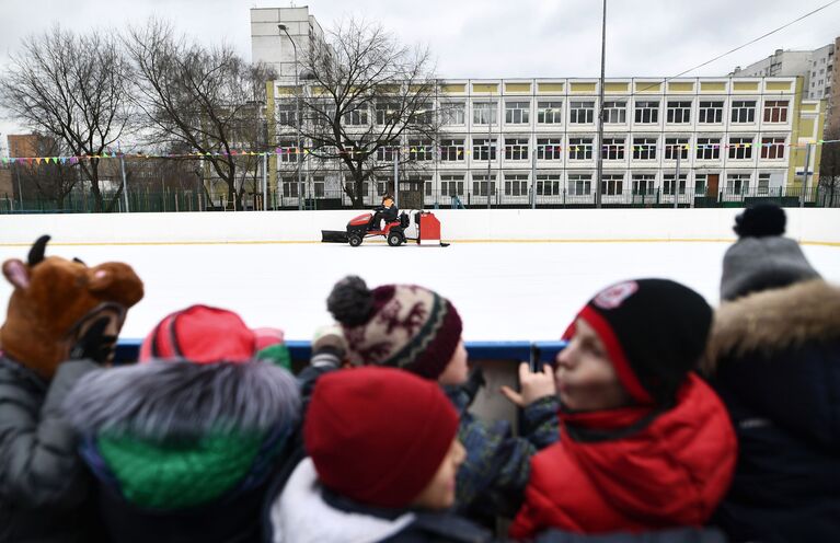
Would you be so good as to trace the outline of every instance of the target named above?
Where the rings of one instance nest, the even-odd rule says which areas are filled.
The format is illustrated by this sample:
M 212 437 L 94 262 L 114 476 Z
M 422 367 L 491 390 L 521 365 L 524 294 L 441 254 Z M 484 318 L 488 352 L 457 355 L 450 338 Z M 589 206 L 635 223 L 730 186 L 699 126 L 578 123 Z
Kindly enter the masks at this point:
M 619 381 L 640 404 L 670 406 L 705 349 L 712 308 L 668 279 L 613 285 L 577 315 L 595 328 Z M 574 334 L 574 323 L 564 337 Z

